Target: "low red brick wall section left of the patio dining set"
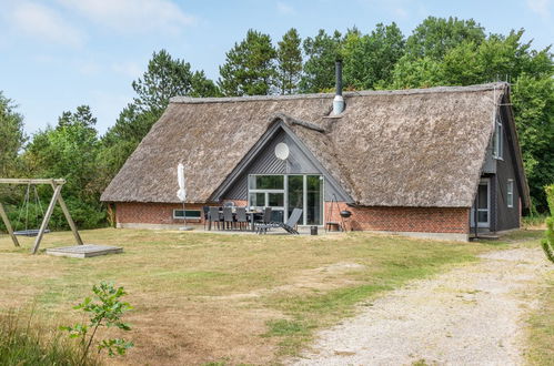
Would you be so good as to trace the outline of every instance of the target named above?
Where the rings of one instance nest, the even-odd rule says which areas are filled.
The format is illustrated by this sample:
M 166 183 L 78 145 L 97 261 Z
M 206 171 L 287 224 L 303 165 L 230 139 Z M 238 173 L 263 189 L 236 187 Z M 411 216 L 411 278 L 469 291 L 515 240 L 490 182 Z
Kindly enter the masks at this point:
M 187 204 L 187 210 L 202 211 L 202 204 Z M 117 203 L 115 217 L 119 224 L 182 224 L 182 218 L 173 218 L 173 210 L 182 210 L 182 204 L 173 203 Z M 202 220 L 188 220 L 190 223 L 203 223 Z

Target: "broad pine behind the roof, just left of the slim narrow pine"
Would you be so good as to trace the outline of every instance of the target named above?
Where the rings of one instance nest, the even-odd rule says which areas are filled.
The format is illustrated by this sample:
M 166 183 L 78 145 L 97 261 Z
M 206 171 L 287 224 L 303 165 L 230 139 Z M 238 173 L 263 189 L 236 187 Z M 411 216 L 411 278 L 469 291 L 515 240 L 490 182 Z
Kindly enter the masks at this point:
M 218 82 L 223 94 L 268 95 L 273 92 L 272 87 L 278 75 L 276 51 L 270 35 L 250 29 L 246 38 L 234 43 L 225 55 Z

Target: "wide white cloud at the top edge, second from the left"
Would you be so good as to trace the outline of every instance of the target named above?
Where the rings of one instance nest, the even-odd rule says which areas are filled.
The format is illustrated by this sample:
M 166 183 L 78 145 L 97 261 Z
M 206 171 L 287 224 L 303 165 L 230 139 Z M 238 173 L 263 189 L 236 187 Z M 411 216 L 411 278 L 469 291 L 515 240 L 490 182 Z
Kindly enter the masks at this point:
M 195 19 L 168 0 L 58 0 L 81 16 L 122 33 L 179 32 Z

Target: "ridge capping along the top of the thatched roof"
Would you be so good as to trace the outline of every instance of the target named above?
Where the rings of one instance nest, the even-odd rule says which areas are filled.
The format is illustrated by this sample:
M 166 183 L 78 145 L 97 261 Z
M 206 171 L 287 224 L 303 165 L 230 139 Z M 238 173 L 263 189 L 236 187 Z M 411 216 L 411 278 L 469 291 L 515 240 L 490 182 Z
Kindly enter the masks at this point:
M 456 92 L 476 92 L 492 89 L 505 89 L 507 82 L 491 82 L 485 84 L 474 84 L 465 87 L 433 87 L 420 89 L 400 89 L 400 90 L 363 90 L 344 92 L 346 98 L 352 96 L 370 96 L 370 95 L 412 95 L 426 93 L 456 93 Z M 236 103 L 252 101 L 281 101 L 281 100 L 298 100 L 298 99 L 332 99 L 334 93 L 310 93 L 310 94 L 289 94 L 289 95 L 244 95 L 244 96 L 221 96 L 221 98 L 192 98 L 192 96 L 173 96 L 171 103 L 179 104 L 202 104 L 202 103 Z

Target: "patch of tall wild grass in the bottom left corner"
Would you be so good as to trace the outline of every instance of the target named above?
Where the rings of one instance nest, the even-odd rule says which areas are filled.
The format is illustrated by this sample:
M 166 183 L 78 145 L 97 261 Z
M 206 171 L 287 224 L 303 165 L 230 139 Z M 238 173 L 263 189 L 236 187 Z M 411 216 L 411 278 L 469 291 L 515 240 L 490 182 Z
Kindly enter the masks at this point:
M 54 329 L 54 331 L 52 331 Z M 47 327 L 33 319 L 32 313 L 0 314 L 1 365 L 99 365 L 93 356 L 81 362 L 81 353 L 73 339 L 63 337 L 56 327 Z

